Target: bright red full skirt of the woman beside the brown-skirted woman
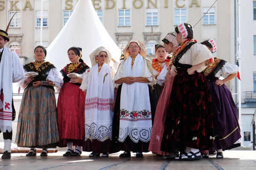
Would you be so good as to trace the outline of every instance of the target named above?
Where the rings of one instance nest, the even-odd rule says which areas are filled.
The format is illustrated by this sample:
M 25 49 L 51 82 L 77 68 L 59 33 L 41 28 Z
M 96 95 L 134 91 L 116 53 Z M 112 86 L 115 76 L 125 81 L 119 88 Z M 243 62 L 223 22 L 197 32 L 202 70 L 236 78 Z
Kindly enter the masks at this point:
M 84 103 L 85 92 L 79 89 L 79 85 L 66 82 L 58 96 L 58 147 L 67 147 L 67 142 L 73 142 L 74 146 L 83 146 Z

